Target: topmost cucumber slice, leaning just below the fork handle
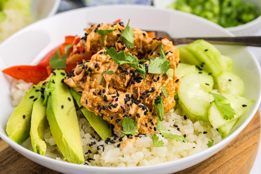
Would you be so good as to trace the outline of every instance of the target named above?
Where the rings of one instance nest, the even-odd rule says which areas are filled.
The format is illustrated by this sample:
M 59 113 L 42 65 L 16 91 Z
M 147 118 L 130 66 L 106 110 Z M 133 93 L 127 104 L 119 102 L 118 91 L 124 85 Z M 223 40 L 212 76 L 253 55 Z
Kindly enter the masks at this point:
M 195 64 L 201 67 L 204 71 L 208 73 L 212 73 L 214 77 L 217 77 L 222 73 L 222 69 L 217 61 L 216 57 L 220 57 L 219 55 L 215 55 L 215 51 L 211 51 L 211 44 L 204 40 L 197 40 L 189 45 L 186 48 L 195 55 L 200 64 Z M 214 47 L 214 46 L 213 46 Z M 215 47 L 214 47 L 215 48 Z M 207 50 L 207 51 L 206 51 Z M 220 52 L 219 52 L 220 53 Z M 220 54 L 221 55 L 221 54 Z

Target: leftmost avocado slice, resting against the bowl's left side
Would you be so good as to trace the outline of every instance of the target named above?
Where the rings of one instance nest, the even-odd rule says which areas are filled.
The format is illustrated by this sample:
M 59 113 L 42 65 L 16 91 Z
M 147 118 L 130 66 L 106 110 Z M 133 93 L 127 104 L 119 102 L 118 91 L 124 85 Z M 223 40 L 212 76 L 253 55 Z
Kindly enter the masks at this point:
M 14 109 L 7 122 L 6 133 L 10 139 L 18 144 L 21 144 L 30 136 L 32 108 L 40 95 L 40 84 L 41 82 L 37 86 L 32 86 L 21 103 Z

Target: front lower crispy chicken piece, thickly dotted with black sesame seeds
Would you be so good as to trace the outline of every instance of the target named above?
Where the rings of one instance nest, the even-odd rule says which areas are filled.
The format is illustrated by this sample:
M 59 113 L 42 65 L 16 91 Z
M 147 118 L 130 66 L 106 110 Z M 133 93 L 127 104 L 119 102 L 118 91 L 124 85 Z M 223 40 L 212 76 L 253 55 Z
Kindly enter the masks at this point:
M 153 131 L 152 127 L 155 125 L 155 118 L 148 114 L 148 108 L 144 104 L 137 101 L 133 103 L 133 100 L 133 97 L 129 94 L 98 85 L 97 88 L 92 88 L 85 96 L 84 106 L 96 115 L 101 115 L 104 120 L 114 126 L 114 130 L 118 133 L 123 130 L 123 117 L 129 117 L 137 121 L 139 133 Z M 146 115 L 144 112 L 146 112 Z

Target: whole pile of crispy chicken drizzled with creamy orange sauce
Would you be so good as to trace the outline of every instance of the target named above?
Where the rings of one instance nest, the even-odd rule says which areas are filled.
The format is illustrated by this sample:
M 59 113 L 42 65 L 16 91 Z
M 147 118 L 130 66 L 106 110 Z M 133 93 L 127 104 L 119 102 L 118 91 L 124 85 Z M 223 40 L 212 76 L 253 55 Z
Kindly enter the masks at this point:
M 69 74 L 64 82 L 76 91 L 82 91 L 81 104 L 114 125 L 116 133 L 120 134 L 123 129 L 123 117 L 137 121 L 138 133 L 150 133 L 154 131 L 156 123 L 153 117 L 157 114 L 154 99 L 160 95 L 164 111 L 170 111 L 175 106 L 174 95 L 179 82 L 176 79 L 173 81 L 171 77 L 167 78 L 166 74 L 146 73 L 143 79 L 128 64 L 119 66 L 109 55 L 105 55 L 103 40 L 97 30 L 109 30 L 112 26 L 117 30 L 106 35 L 107 48 L 113 46 L 117 51 L 124 50 L 137 55 L 138 58 L 151 59 L 159 56 L 159 44 L 162 44 L 166 58 L 171 62 L 171 68 L 175 70 L 179 62 L 179 52 L 168 39 L 149 38 L 146 32 L 135 28 L 133 29 L 135 46 L 127 48 L 119 37 L 125 28 L 123 23 L 97 24 L 86 28 L 86 34 L 80 41 L 87 50 L 97 50 L 97 53 L 83 66 L 78 64 L 74 74 Z M 147 72 L 148 61 L 144 65 Z M 114 74 L 103 74 L 104 71 L 113 71 Z M 175 78 L 175 75 L 173 77 Z M 162 93 L 164 86 L 168 97 Z

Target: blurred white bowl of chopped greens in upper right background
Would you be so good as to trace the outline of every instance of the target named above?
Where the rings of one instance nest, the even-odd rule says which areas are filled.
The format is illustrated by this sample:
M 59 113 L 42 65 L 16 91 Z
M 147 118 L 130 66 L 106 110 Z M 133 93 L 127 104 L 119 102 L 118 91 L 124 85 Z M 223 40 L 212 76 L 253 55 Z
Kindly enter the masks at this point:
M 157 8 L 167 8 L 176 0 L 153 0 L 153 4 Z M 242 0 L 245 2 L 253 3 L 261 12 L 261 0 Z M 261 15 L 251 22 L 245 23 L 240 26 L 229 27 L 226 30 L 232 32 L 235 36 L 249 36 L 255 34 L 261 28 Z

